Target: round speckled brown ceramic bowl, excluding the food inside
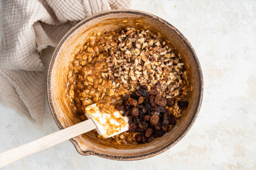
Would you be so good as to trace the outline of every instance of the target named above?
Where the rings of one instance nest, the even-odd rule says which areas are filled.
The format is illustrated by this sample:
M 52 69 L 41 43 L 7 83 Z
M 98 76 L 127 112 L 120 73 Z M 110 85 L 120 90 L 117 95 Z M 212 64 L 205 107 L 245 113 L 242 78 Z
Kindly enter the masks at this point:
M 197 55 L 191 44 L 174 26 L 165 20 L 137 10 L 110 10 L 92 15 L 74 26 L 59 42 L 48 67 L 47 93 L 48 103 L 53 118 L 59 129 L 67 128 L 81 122 L 72 112 L 66 100 L 65 88 L 68 65 L 76 47 L 83 45 L 86 36 L 95 32 L 112 31 L 128 25 L 136 26 L 135 20 L 144 21 L 151 30 L 160 32 L 171 41 L 189 72 L 192 92 L 189 96 L 188 108 L 177 124 L 164 136 L 147 144 L 112 145 L 98 139 L 93 132 L 82 134 L 70 141 L 81 155 L 96 155 L 112 160 L 141 160 L 158 155 L 180 141 L 197 118 L 203 97 L 203 75 Z M 122 21 L 127 20 L 127 23 Z M 188 64 L 188 65 L 187 65 Z

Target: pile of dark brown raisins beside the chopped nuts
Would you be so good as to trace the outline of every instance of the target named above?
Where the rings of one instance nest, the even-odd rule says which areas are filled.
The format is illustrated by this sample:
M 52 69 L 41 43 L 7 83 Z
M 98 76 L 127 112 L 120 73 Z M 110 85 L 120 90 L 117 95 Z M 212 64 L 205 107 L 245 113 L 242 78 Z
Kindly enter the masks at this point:
M 136 92 L 125 96 L 121 106 L 116 107 L 124 111 L 123 116 L 128 116 L 129 130 L 139 132 L 135 137 L 139 143 L 152 142 L 167 132 L 168 125 L 176 124 L 175 117 L 165 108 L 174 105 L 172 98 L 161 98 L 155 87 L 149 92 L 147 90 L 147 86 L 140 86 Z M 185 109 L 188 102 L 179 101 L 178 105 Z

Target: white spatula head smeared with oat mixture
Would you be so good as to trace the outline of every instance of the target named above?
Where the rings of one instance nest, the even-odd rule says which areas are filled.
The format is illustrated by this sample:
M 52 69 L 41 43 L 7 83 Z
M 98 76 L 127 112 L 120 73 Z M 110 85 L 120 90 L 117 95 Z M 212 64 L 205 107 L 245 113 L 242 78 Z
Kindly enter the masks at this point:
M 101 111 L 100 103 L 94 103 L 85 108 L 85 115 L 91 118 L 96 124 L 96 131 L 102 138 L 109 138 L 121 134 L 129 129 L 128 117 L 122 116 L 123 111 L 118 111 L 113 105 L 113 112 L 107 113 Z

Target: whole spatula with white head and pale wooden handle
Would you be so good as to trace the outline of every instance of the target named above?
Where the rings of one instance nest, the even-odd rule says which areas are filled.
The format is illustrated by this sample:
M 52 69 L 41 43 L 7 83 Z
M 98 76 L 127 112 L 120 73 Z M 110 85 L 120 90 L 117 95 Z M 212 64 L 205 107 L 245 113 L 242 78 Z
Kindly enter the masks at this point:
M 123 117 L 122 112 L 115 110 L 112 113 L 101 113 L 97 106 L 95 103 L 85 108 L 88 120 L 0 153 L 0 168 L 93 129 L 96 129 L 103 138 L 109 138 L 128 130 L 128 117 Z

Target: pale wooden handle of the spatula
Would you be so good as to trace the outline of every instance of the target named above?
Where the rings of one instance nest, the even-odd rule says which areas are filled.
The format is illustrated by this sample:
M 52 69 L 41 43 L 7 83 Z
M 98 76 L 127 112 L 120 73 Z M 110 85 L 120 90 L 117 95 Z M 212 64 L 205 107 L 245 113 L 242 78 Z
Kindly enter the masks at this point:
M 96 129 L 96 125 L 91 119 L 89 119 L 79 124 L 70 126 L 66 129 L 62 129 L 53 134 L 49 134 L 43 138 L 34 140 L 30 143 L 21 145 L 17 148 L 7 150 L 0 154 L 0 168 L 4 167 L 5 165 L 11 164 L 12 162 L 19 160 L 23 157 L 49 148 L 55 144 L 59 144 L 61 142 L 64 142 L 65 140 L 74 138 L 75 136 L 84 134 L 93 129 Z

